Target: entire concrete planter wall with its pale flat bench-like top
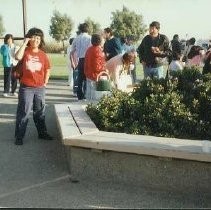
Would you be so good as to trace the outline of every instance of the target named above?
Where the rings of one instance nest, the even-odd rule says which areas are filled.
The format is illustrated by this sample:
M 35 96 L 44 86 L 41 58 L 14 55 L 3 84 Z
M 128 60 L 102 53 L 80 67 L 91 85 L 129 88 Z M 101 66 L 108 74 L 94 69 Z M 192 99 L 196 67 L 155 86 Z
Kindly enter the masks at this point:
M 204 152 L 203 141 L 99 131 L 84 109 L 55 105 L 74 178 L 211 190 L 211 151 Z

